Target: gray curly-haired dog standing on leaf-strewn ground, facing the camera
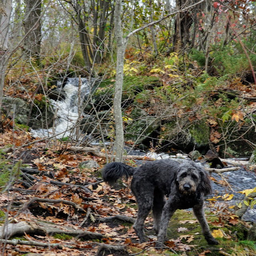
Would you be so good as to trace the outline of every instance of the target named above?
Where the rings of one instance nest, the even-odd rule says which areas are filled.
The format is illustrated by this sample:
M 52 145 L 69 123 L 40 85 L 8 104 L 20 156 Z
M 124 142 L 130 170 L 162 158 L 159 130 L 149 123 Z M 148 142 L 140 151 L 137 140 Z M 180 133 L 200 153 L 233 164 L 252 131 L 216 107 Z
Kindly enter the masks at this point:
M 133 176 L 131 189 L 138 204 L 138 216 L 133 227 L 140 242 L 146 242 L 143 227 L 151 209 L 154 215 L 153 228 L 158 234 L 156 245 L 161 247 L 174 212 L 177 209 L 193 208 L 208 244 L 218 244 L 204 216 L 204 196 L 212 192 L 210 180 L 206 171 L 194 162 L 180 164 L 175 160 L 163 159 L 146 162 L 138 168 L 112 162 L 104 166 L 102 176 L 110 185 L 118 178 Z

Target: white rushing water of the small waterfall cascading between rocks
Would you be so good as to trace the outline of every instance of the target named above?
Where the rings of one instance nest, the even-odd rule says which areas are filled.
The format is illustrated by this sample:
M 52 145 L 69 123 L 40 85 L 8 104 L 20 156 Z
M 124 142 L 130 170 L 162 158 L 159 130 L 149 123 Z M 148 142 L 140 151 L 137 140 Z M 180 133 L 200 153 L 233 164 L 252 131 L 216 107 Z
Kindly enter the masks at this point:
M 88 95 L 90 92 L 90 87 L 88 80 L 86 78 L 81 78 L 81 98 Z M 74 136 L 74 129 L 72 128 L 78 120 L 78 78 L 68 78 L 64 88 L 62 89 L 66 93 L 64 100 L 50 100 L 52 108 L 57 109 L 57 118 L 55 123 L 55 132 L 52 128 L 49 129 L 31 129 L 31 134 L 34 137 L 48 137 L 55 134 L 56 138 L 64 138 L 69 136 Z M 61 133 L 61 134 L 60 134 Z

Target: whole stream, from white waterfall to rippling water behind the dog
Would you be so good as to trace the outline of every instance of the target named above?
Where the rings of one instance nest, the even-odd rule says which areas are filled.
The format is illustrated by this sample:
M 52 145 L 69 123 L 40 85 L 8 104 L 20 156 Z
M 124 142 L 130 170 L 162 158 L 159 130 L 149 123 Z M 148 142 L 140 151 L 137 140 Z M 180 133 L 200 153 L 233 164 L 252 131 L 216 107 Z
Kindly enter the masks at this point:
M 90 84 L 86 78 L 81 78 L 81 97 L 84 98 L 86 95 L 90 93 Z M 50 100 L 52 107 L 56 110 L 57 121 L 55 124 L 55 130 L 50 129 L 39 129 L 39 130 L 31 130 L 31 133 L 34 137 L 47 137 L 52 136 L 54 134 L 59 134 L 56 138 L 63 137 L 74 137 L 74 129 L 72 127 L 76 124 L 78 120 L 78 78 L 68 78 L 67 82 L 64 84 L 64 87 L 61 88 L 61 82 L 57 84 L 59 90 L 62 90 L 62 95 L 65 95 L 64 99 L 61 100 Z M 83 114 L 86 116 L 87 114 Z M 140 150 L 132 150 L 130 154 L 135 155 L 145 155 L 144 152 L 140 152 Z M 188 159 L 186 155 L 177 154 L 175 156 L 166 154 L 164 152 L 156 154 L 154 152 L 146 153 L 146 156 L 153 157 L 155 159 L 166 159 L 172 158 L 176 161 L 182 162 Z M 239 160 L 239 159 L 237 159 Z M 243 159 L 244 160 L 244 159 Z M 209 167 L 206 162 L 200 162 L 199 160 L 195 161 L 201 164 L 204 167 Z M 138 161 L 138 164 L 142 163 L 142 161 Z M 227 166 L 231 167 L 231 166 Z M 218 196 L 223 194 L 234 194 L 234 197 L 231 201 L 223 202 L 220 200 L 220 203 L 226 203 L 229 205 L 236 204 L 236 202 L 240 202 L 242 198 L 244 198 L 243 194 L 238 193 L 239 191 L 246 190 L 249 188 L 256 187 L 256 175 L 255 172 L 246 171 L 244 168 L 240 168 L 239 170 L 232 172 L 224 172 L 222 176 L 227 180 L 230 184 L 229 186 L 223 186 L 218 182 L 222 180 L 222 177 L 216 173 L 210 174 L 217 182 L 212 181 L 213 195 Z M 248 209 L 247 212 L 243 216 L 244 220 L 254 221 L 256 222 L 256 205 L 254 205 L 253 209 Z

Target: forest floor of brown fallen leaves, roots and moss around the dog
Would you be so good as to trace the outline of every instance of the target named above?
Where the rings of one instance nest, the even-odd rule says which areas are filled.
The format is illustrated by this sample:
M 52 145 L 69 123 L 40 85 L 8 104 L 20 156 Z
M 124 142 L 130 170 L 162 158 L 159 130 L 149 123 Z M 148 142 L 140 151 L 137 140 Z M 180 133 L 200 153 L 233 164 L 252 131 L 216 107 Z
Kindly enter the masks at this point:
M 162 251 L 154 248 L 156 234 L 148 216 L 148 242 L 140 244 L 132 228 L 137 204 L 130 180 L 107 186 L 100 172 L 106 158 L 71 152 L 71 143 L 36 141 L 29 132 L 0 134 L 2 148 L 24 143 L 28 145 L 19 150 L 0 152 L 0 221 L 2 227 L 8 225 L 6 230 L 0 227 L 4 256 L 256 255 L 254 242 L 246 240 L 251 224 L 234 216 L 230 204 L 217 205 L 214 198 L 206 204 L 206 217 L 218 246 L 206 243 L 190 210 L 176 211 Z M 79 167 L 86 160 L 100 167 Z

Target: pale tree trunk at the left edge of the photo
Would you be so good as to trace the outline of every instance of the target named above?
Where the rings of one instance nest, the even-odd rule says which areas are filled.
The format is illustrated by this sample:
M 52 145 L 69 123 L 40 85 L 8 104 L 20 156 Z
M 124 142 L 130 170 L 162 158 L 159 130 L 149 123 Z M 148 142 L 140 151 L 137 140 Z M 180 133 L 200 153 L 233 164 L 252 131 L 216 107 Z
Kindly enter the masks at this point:
M 12 0 L 3 0 L 0 3 L 0 110 L 4 95 L 4 79 L 6 75 L 10 50 L 8 49 L 10 15 L 12 12 Z M 2 116 L 2 115 L 0 115 Z

